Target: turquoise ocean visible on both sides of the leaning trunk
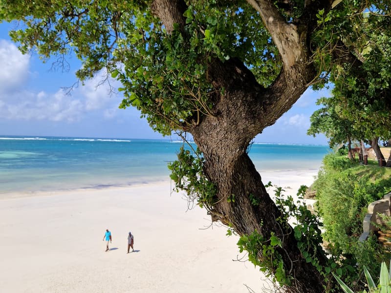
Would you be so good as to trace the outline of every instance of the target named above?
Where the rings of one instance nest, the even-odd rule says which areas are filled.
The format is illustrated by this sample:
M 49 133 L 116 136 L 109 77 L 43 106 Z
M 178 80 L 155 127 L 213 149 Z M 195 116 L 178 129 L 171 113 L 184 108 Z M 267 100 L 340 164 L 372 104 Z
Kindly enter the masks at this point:
M 126 187 L 169 180 L 171 140 L 0 136 L 0 194 Z M 253 143 L 262 171 L 319 169 L 328 146 Z

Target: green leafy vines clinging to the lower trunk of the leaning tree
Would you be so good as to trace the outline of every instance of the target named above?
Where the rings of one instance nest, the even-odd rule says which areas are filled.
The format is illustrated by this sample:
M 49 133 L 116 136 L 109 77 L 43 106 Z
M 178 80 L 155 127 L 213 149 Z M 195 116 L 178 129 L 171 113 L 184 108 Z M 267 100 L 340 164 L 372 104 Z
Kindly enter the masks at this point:
M 189 146 L 191 145 L 189 144 Z M 189 201 L 196 201 L 198 206 L 205 207 L 213 214 L 213 207 L 217 203 L 217 187 L 206 178 L 203 172 L 204 158 L 202 153 L 198 148 L 190 150 L 182 146 L 177 157 L 178 160 L 169 164 L 169 169 L 172 172 L 170 178 L 175 184 L 174 191 L 184 190 Z M 265 187 L 272 187 L 271 182 Z M 324 276 L 327 283 L 332 271 L 342 276 L 342 270 L 333 259 L 329 259 L 325 265 L 321 264 L 317 257 L 319 253 L 324 253 L 324 251 L 319 251 L 319 245 L 323 241 L 319 227 L 322 227 L 323 224 L 319 217 L 312 214 L 302 201 L 306 189 L 306 186 L 299 189 L 297 203 L 294 203 L 291 196 L 284 198 L 284 190 L 281 187 L 275 189 L 276 204 L 282 212 L 282 215 L 276 220 L 279 225 L 287 225 L 288 220 L 295 219 L 295 227 L 291 232 L 294 233 L 302 257 Z M 249 198 L 253 206 L 260 204 L 253 194 L 249 194 Z M 235 197 L 233 195 L 228 197 L 227 202 L 234 203 Z M 227 235 L 234 233 L 234 229 L 228 227 Z M 266 238 L 255 230 L 251 234 L 240 235 L 238 246 L 240 252 L 247 251 L 248 260 L 260 267 L 260 270 L 266 273 L 267 277 L 271 276 L 272 280 L 278 282 L 280 286 L 290 286 L 294 279 L 293 261 L 290 267 L 286 267 L 281 252 L 277 250 L 277 248 L 280 251 L 283 249 L 284 236 L 283 233 L 272 232 L 270 237 Z

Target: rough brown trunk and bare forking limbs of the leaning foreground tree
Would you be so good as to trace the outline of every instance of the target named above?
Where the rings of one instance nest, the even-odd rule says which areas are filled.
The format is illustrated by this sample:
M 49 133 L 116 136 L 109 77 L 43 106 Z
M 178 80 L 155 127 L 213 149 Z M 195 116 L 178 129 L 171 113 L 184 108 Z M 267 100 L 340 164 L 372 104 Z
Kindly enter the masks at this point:
M 288 23 L 271 0 L 248 0 L 260 13 L 265 27 L 279 49 L 282 69 L 268 88 L 256 81 L 242 61 L 232 58 L 224 63 L 212 59 L 208 67 L 209 82 L 216 89 L 213 116 L 202 116 L 187 126 L 205 158 L 204 173 L 217 187 L 217 202 L 212 219 L 232 226 L 240 235 L 258 231 L 269 239 L 272 232 L 282 239 L 282 256 L 286 273 L 293 276 L 286 292 L 322 293 L 324 277 L 307 263 L 287 223 L 279 223 L 280 211 L 267 194 L 261 176 L 249 159 L 246 148 L 266 126 L 276 122 L 303 94 L 317 72 L 311 63 L 309 34 L 317 25 L 316 13 L 331 9 L 332 0 L 312 1 L 296 24 Z M 154 0 L 152 12 L 171 33 L 174 25 L 183 30 L 183 0 Z M 325 12 L 326 13 L 326 12 Z M 224 94 L 219 94 L 224 88 Z M 252 205 L 252 199 L 259 205 Z M 235 200 L 228 200 L 234 197 Z M 263 256 L 259 252 L 259 258 Z M 317 258 L 326 263 L 319 247 Z

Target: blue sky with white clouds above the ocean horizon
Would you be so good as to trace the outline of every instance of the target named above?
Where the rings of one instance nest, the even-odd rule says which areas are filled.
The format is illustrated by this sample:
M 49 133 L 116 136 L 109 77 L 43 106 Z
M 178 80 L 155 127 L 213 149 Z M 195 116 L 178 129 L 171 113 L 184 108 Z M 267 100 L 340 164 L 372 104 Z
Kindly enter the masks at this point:
M 163 138 L 154 132 L 135 108 L 119 109 L 120 94 L 109 95 L 108 84 L 97 87 L 104 72 L 67 94 L 64 87 L 77 82 L 80 67 L 69 57 L 68 72 L 53 70 L 36 54 L 22 55 L 10 41 L 6 23 L 0 23 L 0 135 L 76 136 L 108 138 Z M 114 86 L 120 86 L 117 82 Z M 256 142 L 326 144 L 324 135 L 306 135 L 309 117 L 326 89 L 307 89 L 293 107 L 273 126 L 263 130 Z

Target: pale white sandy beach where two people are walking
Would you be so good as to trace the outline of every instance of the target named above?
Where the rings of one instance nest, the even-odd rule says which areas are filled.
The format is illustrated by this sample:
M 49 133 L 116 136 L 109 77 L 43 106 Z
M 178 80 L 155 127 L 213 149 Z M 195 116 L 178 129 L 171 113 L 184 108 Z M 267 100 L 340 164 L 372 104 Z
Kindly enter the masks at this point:
M 314 175 L 266 172 L 262 180 L 295 194 Z M 170 191 L 165 182 L 2 195 L 1 292 L 266 292 L 259 269 L 233 261 L 243 256 L 238 238 L 224 227 L 207 229 L 206 211 L 187 210 Z M 105 229 L 113 236 L 108 252 Z M 127 254 L 130 230 L 135 252 Z

